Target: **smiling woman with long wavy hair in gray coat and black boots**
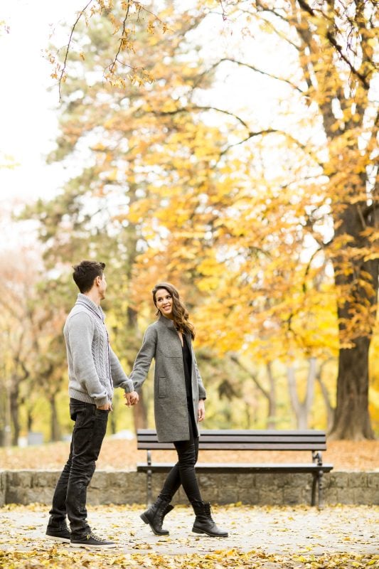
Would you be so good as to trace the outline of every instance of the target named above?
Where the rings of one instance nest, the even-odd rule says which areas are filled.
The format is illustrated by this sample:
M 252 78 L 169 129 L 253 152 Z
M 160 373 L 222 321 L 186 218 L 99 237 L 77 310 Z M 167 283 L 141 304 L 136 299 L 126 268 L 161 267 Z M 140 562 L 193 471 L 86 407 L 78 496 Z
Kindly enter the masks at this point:
M 168 535 L 162 528 L 164 516 L 173 509 L 170 502 L 183 486 L 196 514 L 192 531 L 208 536 L 228 537 L 210 515 L 210 504 L 203 502 L 195 473 L 198 459 L 198 421 L 205 417 L 205 389 L 201 380 L 192 340 L 193 324 L 177 289 L 161 282 L 152 290 L 158 319 L 145 332 L 134 362 L 132 379 L 139 393 L 155 359 L 154 415 L 160 442 L 174 442 L 178 462 L 171 469 L 158 498 L 141 515 L 158 536 Z

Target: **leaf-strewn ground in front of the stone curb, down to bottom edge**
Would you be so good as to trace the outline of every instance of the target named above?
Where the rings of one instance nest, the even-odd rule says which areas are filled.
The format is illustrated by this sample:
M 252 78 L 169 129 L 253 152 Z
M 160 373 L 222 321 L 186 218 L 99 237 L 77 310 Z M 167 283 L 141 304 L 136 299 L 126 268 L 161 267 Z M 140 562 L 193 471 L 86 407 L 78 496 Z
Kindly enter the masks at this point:
M 92 506 L 93 531 L 117 548 L 90 552 L 46 540 L 48 506 L 0 509 L 0 568 L 369 568 L 379 565 L 379 508 L 333 506 L 219 506 L 214 518 L 228 538 L 191 532 L 193 513 L 176 506 L 166 517 L 168 537 L 154 536 L 140 506 Z

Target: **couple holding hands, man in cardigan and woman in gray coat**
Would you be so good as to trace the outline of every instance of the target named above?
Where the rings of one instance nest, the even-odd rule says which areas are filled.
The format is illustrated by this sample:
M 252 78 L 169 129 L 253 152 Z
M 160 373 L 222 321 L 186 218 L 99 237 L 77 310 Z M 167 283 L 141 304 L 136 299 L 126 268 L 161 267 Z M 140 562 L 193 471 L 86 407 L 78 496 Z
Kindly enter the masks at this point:
M 80 290 L 65 321 L 63 333 L 68 358 L 70 417 L 75 422 L 68 461 L 55 487 L 46 536 L 73 547 L 112 548 L 110 540 L 96 536 L 87 523 L 87 486 L 95 472 L 112 411 L 114 387 L 124 389 L 126 405 L 136 405 L 139 390 L 155 360 L 154 417 L 161 442 L 173 442 L 178 462 L 166 477 L 154 504 L 141 514 L 156 535 L 179 486 L 196 515 L 192 531 L 208 536 L 228 537 L 216 526 L 210 504 L 198 487 L 195 464 L 198 459 L 198 422 L 205 417 L 205 389 L 198 371 L 192 341 L 193 324 L 177 289 L 161 282 L 152 291 L 157 320 L 146 329 L 141 349 L 129 378 L 110 347 L 105 315 L 100 302 L 105 298 L 105 263 L 82 261 L 74 267 L 73 279 Z M 70 530 L 66 517 L 70 522 Z

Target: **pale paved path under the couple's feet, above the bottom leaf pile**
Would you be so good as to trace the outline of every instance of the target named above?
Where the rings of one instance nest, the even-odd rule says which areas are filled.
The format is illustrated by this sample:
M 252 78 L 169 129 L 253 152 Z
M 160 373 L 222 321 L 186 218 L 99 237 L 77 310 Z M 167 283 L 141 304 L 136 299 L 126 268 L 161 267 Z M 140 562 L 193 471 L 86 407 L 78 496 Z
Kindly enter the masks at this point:
M 88 520 L 95 533 L 117 542 L 120 553 L 181 555 L 231 549 L 265 555 L 379 553 L 378 506 L 327 506 L 321 511 L 310 506 L 218 506 L 213 517 L 220 527 L 228 528 L 228 538 L 192 533 L 193 514 L 187 506 L 176 506 L 166 517 L 170 536 L 159 538 L 139 518 L 140 512 L 136 506 L 92 506 Z M 44 537 L 47 519 L 46 506 L 0 509 L 0 551 L 53 546 Z

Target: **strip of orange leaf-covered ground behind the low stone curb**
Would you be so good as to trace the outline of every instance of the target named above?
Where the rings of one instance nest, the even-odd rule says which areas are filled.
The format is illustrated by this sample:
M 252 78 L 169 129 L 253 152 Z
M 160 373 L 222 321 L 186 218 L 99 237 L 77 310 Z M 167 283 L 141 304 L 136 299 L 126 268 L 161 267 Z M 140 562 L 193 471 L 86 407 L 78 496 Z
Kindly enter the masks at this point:
M 61 469 L 68 457 L 68 442 L 55 442 L 38 447 L 0 449 L 2 469 Z M 309 462 L 308 452 L 223 452 L 201 451 L 199 462 Z M 335 471 L 378 470 L 379 441 L 332 441 L 324 452 L 324 462 L 331 462 Z M 154 459 L 174 460 L 174 451 L 156 451 Z M 137 450 L 136 440 L 105 438 L 97 461 L 97 469 L 130 469 L 146 459 L 146 452 Z

